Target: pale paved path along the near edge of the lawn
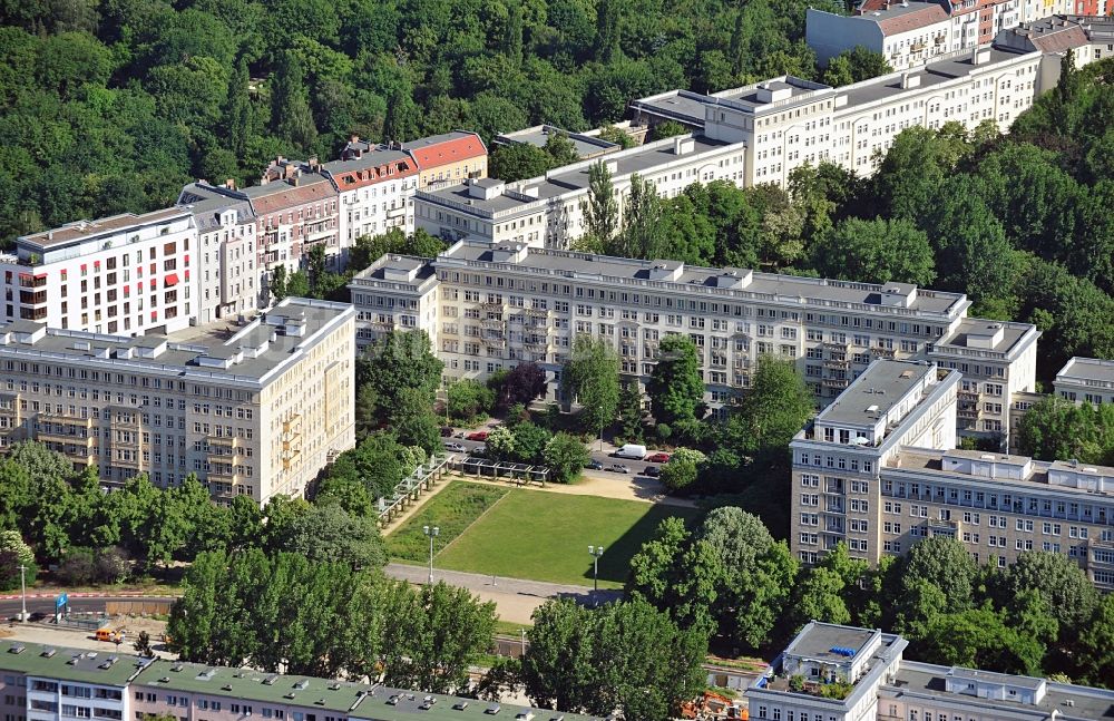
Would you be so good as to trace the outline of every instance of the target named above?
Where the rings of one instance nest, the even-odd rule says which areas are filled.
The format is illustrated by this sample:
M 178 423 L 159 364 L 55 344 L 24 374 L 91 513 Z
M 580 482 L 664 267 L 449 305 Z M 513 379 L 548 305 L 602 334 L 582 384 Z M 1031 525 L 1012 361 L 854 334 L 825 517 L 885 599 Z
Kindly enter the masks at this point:
M 429 581 L 429 566 L 391 563 L 383 569 L 388 576 L 423 584 Z M 530 623 L 534 610 L 551 597 L 575 598 L 579 603 L 607 603 L 623 596 L 622 591 L 593 591 L 590 586 L 571 586 L 524 578 L 486 576 L 461 571 L 442 571 L 433 567 L 433 582 L 443 581 L 451 586 L 468 588 L 483 601 L 495 602 L 499 617 L 512 623 Z

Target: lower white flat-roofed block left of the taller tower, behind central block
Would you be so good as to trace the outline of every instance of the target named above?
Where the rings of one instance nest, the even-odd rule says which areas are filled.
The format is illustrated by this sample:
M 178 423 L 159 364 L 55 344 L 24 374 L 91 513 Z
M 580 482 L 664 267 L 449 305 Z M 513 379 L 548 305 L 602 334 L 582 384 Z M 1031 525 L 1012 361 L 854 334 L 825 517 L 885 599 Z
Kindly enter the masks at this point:
M 525 243 L 567 249 L 584 235 L 582 205 L 588 199 L 588 174 L 604 163 L 619 198 L 637 174 L 662 197 L 675 197 L 693 183 L 730 181 L 742 185 L 745 148 L 703 136 L 678 136 L 617 150 L 549 170 L 541 177 L 505 183 L 473 179 L 414 196 L 414 223 L 455 243 L 479 240 L 489 246 Z

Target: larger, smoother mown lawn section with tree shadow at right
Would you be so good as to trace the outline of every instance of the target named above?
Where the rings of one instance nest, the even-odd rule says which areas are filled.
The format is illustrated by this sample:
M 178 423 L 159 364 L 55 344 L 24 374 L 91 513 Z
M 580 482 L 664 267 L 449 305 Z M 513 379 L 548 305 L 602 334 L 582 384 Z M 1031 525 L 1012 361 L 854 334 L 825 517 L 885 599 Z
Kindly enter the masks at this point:
M 436 563 L 455 571 L 592 585 L 588 546 L 603 545 L 599 585 L 615 588 L 663 518 L 692 522 L 698 515 L 692 508 L 515 488 L 455 543 L 442 546 Z

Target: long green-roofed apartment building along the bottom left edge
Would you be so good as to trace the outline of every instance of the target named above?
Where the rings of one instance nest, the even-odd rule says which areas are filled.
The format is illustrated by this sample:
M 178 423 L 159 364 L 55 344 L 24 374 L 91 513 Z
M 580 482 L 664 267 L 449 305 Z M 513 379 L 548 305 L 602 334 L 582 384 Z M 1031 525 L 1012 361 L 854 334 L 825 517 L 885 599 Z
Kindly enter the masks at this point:
M 0 643 L 6 721 L 407 721 L 418 717 L 480 721 L 590 721 L 521 705 L 305 675 L 267 673 L 127 654 Z M 33 704 L 33 705 L 32 705 Z

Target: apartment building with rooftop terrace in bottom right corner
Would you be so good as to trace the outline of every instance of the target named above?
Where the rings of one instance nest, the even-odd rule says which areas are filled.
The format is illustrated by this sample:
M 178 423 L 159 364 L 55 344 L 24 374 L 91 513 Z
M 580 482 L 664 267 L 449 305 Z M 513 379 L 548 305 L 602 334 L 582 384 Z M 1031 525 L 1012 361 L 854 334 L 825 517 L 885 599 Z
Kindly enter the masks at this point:
M 898 634 L 812 621 L 745 690 L 749 718 L 1092 721 L 1105 718 L 1114 707 L 1114 691 L 918 663 L 905 657 L 908 645 Z M 830 693 L 837 683 L 849 684 L 842 686 L 843 698 Z

